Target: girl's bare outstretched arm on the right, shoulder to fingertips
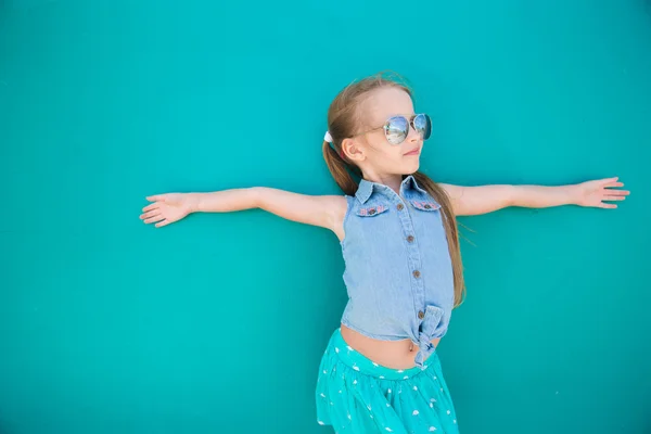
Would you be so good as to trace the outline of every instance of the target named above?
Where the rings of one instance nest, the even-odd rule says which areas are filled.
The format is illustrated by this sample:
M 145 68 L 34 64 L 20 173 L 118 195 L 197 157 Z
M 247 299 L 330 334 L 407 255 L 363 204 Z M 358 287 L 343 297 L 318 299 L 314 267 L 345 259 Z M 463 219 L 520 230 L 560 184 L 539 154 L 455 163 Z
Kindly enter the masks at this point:
M 526 208 L 546 208 L 560 205 L 593 206 L 616 208 L 617 205 L 604 203 L 623 201 L 627 190 L 615 190 L 624 187 L 618 178 L 598 179 L 571 186 L 478 186 L 460 187 L 441 184 L 452 203 L 458 216 L 474 216 L 492 213 L 509 206 Z

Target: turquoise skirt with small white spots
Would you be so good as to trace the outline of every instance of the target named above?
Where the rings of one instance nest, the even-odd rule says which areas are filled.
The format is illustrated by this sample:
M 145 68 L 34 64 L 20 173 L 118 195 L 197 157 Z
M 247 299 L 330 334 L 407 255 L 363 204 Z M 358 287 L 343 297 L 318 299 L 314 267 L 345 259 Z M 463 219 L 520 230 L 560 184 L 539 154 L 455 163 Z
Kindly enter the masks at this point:
M 436 352 L 423 368 L 380 366 L 348 346 L 336 329 L 319 368 L 317 421 L 335 433 L 458 433 Z

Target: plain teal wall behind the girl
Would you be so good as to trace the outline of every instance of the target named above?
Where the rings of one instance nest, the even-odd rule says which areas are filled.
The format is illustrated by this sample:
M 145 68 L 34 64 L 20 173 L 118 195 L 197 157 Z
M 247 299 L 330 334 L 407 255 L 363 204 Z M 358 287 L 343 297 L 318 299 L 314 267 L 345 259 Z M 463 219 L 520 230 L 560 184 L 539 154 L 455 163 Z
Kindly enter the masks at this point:
M 462 432 L 651 432 L 649 2 L 224 3 L 0 1 L 0 433 L 329 432 L 335 237 L 138 216 L 159 192 L 339 193 L 328 105 L 385 68 L 432 114 L 435 179 L 633 192 L 461 219 L 439 354 Z

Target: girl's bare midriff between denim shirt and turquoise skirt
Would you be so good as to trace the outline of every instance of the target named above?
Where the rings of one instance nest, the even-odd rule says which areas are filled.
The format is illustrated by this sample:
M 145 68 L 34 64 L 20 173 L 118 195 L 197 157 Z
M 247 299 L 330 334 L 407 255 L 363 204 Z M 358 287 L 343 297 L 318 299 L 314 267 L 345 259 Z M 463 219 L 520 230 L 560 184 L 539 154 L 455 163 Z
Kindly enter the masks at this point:
M 350 347 L 375 363 L 392 369 L 409 369 L 416 366 L 416 355 L 419 346 L 411 340 L 380 341 L 365 336 L 353 329 L 341 324 L 342 337 Z M 438 345 L 439 337 L 432 340 L 434 346 Z

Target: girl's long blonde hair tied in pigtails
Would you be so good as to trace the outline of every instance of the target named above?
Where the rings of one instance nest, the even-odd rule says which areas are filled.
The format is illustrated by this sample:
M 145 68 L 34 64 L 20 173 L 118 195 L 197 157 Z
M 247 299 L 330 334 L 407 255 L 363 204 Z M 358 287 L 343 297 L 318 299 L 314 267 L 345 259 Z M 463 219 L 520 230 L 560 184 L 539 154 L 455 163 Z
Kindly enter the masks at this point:
M 328 131 L 332 137 L 332 144 L 323 141 L 323 158 L 337 186 L 347 195 L 355 195 L 359 184 L 354 176 L 360 178 L 361 171 L 355 164 L 346 158 L 345 154 L 343 154 L 341 148 L 342 141 L 345 138 L 353 137 L 362 124 L 359 106 L 365 98 L 376 89 L 387 87 L 401 89 L 407 92 L 409 97 L 412 97 L 413 94 L 412 90 L 399 76 L 380 73 L 346 86 L 332 101 L 330 108 L 328 110 Z M 450 200 L 443 187 L 438 186 L 426 175 L 420 171 L 411 175 L 414 177 L 418 184 L 441 204 L 443 225 L 452 261 L 455 307 L 457 307 L 465 297 L 465 283 L 463 281 L 459 231 Z

